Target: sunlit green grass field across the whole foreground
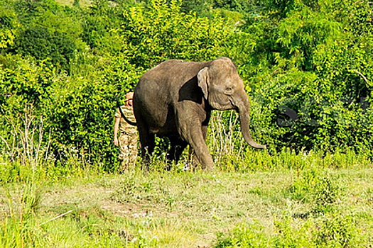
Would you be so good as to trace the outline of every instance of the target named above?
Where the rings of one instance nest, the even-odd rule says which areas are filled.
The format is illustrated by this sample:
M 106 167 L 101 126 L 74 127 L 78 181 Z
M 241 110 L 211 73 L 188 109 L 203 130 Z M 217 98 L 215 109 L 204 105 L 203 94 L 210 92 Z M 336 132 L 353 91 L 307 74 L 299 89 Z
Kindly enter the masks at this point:
M 82 168 L 56 179 L 51 167 L 40 166 L 35 173 L 17 168 L 13 181 L 2 174 L 0 247 L 373 243 L 368 160 L 357 161 L 352 154 L 251 156 L 246 163 L 226 158 L 211 173 L 178 167 L 166 172 L 156 163 L 147 172 L 100 174 Z M 253 161 L 267 167 L 254 167 Z

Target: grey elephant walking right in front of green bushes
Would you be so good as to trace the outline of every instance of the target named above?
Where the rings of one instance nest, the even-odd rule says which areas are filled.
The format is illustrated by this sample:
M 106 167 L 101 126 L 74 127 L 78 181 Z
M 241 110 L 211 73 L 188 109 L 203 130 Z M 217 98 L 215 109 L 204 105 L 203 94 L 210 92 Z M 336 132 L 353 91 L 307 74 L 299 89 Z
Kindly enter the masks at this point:
M 167 159 L 180 159 L 189 144 L 203 169 L 214 163 L 207 150 L 207 125 L 212 110 L 239 113 L 242 135 L 249 145 L 265 149 L 249 131 L 249 98 L 237 69 L 227 57 L 208 62 L 167 60 L 146 72 L 134 90 L 134 114 L 141 154 L 148 161 L 155 135 L 168 137 Z

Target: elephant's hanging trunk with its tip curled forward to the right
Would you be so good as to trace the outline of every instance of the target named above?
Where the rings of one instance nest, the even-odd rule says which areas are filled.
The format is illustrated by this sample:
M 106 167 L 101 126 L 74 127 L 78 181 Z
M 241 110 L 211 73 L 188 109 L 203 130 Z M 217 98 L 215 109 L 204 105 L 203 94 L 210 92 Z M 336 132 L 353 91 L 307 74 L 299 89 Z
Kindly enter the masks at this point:
M 241 131 L 242 135 L 244 136 L 244 140 L 246 140 L 249 145 L 254 148 L 258 149 L 266 149 L 266 145 L 259 145 L 252 139 L 252 135 L 249 130 L 250 126 L 250 104 L 249 98 L 246 96 L 237 104 L 238 112 L 239 112 L 239 121 L 241 123 Z

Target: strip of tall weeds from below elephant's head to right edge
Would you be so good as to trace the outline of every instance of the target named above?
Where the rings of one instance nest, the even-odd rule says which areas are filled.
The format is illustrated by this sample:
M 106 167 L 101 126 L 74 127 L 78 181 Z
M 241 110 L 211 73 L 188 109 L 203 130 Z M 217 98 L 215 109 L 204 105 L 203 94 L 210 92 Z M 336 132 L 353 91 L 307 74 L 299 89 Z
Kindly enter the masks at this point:
M 215 111 L 212 115 L 207 145 L 217 169 L 222 171 L 268 171 L 273 169 L 306 169 L 313 166 L 351 168 L 371 166 L 369 153 L 353 150 L 296 152 L 282 150 L 255 150 L 249 147 L 239 128 L 235 111 Z

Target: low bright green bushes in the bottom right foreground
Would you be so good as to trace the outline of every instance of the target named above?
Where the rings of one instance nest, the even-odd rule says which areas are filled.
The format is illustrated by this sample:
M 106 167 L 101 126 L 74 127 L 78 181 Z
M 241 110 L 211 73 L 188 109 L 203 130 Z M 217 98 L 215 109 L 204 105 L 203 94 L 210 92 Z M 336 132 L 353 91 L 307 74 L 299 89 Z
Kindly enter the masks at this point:
M 231 237 L 221 237 L 216 247 L 364 247 L 369 242 L 369 237 L 360 235 L 354 217 L 340 213 L 301 223 L 286 215 L 274 220 L 271 234 L 263 230 L 257 223 L 237 225 Z

